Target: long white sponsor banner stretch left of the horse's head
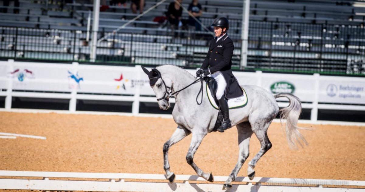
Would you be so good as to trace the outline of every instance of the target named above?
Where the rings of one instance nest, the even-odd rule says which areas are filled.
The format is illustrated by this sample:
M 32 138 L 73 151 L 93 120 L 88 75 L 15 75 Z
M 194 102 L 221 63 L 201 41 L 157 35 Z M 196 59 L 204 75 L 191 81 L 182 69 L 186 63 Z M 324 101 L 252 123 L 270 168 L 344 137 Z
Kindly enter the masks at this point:
M 134 95 L 137 87 L 147 84 L 149 89 L 141 90 L 154 94 L 148 78 L 138 78 L 135 67 L 78 65 L 75 70 L 71 64 L 15 62 L 14 70 L 5 71 L 5 79 L 13 80 L 14 90 L 71 92 L 76 89 L 78 93 Z M 2 84 L 6 83 L 1 83 L 0 77 Z

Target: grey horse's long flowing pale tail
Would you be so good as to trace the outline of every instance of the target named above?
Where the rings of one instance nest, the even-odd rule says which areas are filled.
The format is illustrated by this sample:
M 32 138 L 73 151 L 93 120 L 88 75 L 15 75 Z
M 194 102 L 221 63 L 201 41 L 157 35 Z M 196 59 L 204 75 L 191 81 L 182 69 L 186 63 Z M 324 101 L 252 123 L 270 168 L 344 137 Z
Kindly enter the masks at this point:
M 279 112 L 281 112 L 281 127 L 283 127 L 283 120 L 287 120 L 287 122 L 285 123 L 285 130 L 287 133 L 289 147 L 291 147 L 292 149 L 297 149 L 296 143 L 298 143 L 301 147 L 304 147 L 304 144 L 308 146 L 307 140 L 299 132 L 300 129 L 308 128 L 302 128 L 297 126 L 299 115 L 301 113 L 301 103 L 299 98 L 290 93 L 277 93 L 274 94 L 274 97 L 286 97 L 289 99 L 289 106 L 279 110 Z

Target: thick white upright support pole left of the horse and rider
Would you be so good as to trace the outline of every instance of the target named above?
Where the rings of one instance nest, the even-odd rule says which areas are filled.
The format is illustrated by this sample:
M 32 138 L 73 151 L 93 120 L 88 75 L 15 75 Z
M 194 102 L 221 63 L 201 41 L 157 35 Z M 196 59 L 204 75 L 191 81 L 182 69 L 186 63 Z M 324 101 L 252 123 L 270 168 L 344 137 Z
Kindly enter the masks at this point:
M 94 0 L 93 20 L 92 20 L 92 43 L 90 61 L 95 62 L 96 60 L 96 46 L 97 46 L 97 32 L 99 31 L 99 11 L 100 11 L 100 0 Z

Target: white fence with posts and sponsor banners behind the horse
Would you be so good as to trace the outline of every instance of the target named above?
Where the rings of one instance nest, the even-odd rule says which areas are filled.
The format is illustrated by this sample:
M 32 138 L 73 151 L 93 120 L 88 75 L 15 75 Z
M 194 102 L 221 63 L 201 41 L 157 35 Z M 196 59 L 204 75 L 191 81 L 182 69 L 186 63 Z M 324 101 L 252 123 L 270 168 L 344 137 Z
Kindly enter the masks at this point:
M 188 70 L 195 74 L 195 70 Z M 311 109 L 317 120 L 318 109 L 365 110 L 365 78 L 343 76 L 234 72 L 240 84 L 254 84 L 276 92 L 293 93 L 303 108 Z M 70 99 L 69 111 L 76 100 L 130 101 L 132 114 L 139 113 L 140 102 L 157 102 L 149 80 L 140 66 L 115 67 L 0 61 L 0 96 L 5 109 L 12 97 Z M 250 93 L 247 93 L 250 97 Z M 278 99 L 279 106 L 288 105 Z M 175 102 L 174 98 L 170 102 Z M 345 105 L 344 105 L 345 104 Z M 356 105 L 351 105 L 356 104 Z

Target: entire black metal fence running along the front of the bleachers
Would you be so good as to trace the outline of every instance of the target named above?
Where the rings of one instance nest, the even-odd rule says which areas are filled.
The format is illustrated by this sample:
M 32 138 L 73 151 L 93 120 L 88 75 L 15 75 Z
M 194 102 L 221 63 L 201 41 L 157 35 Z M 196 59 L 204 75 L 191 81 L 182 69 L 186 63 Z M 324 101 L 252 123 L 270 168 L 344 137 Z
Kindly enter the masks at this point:
M 241 24 L 233 21 L 233 67 L 240 68 Z M 245 69 L 365 76 L 365 27 L 250 21 Z M 87 31 L 0 27 L 0 58 L 90 60 L 92 33 Z M 98 39 L 108 35 L 98 32 Z M 89 38 L 87 38 L 89 36 Z M 173 64 L 198 67 L 212 36 L 194 30 L 165 33 L 115 33 L 97 45 L 96 62 Z M 89 40 L 90 39 L 90 40 Z

